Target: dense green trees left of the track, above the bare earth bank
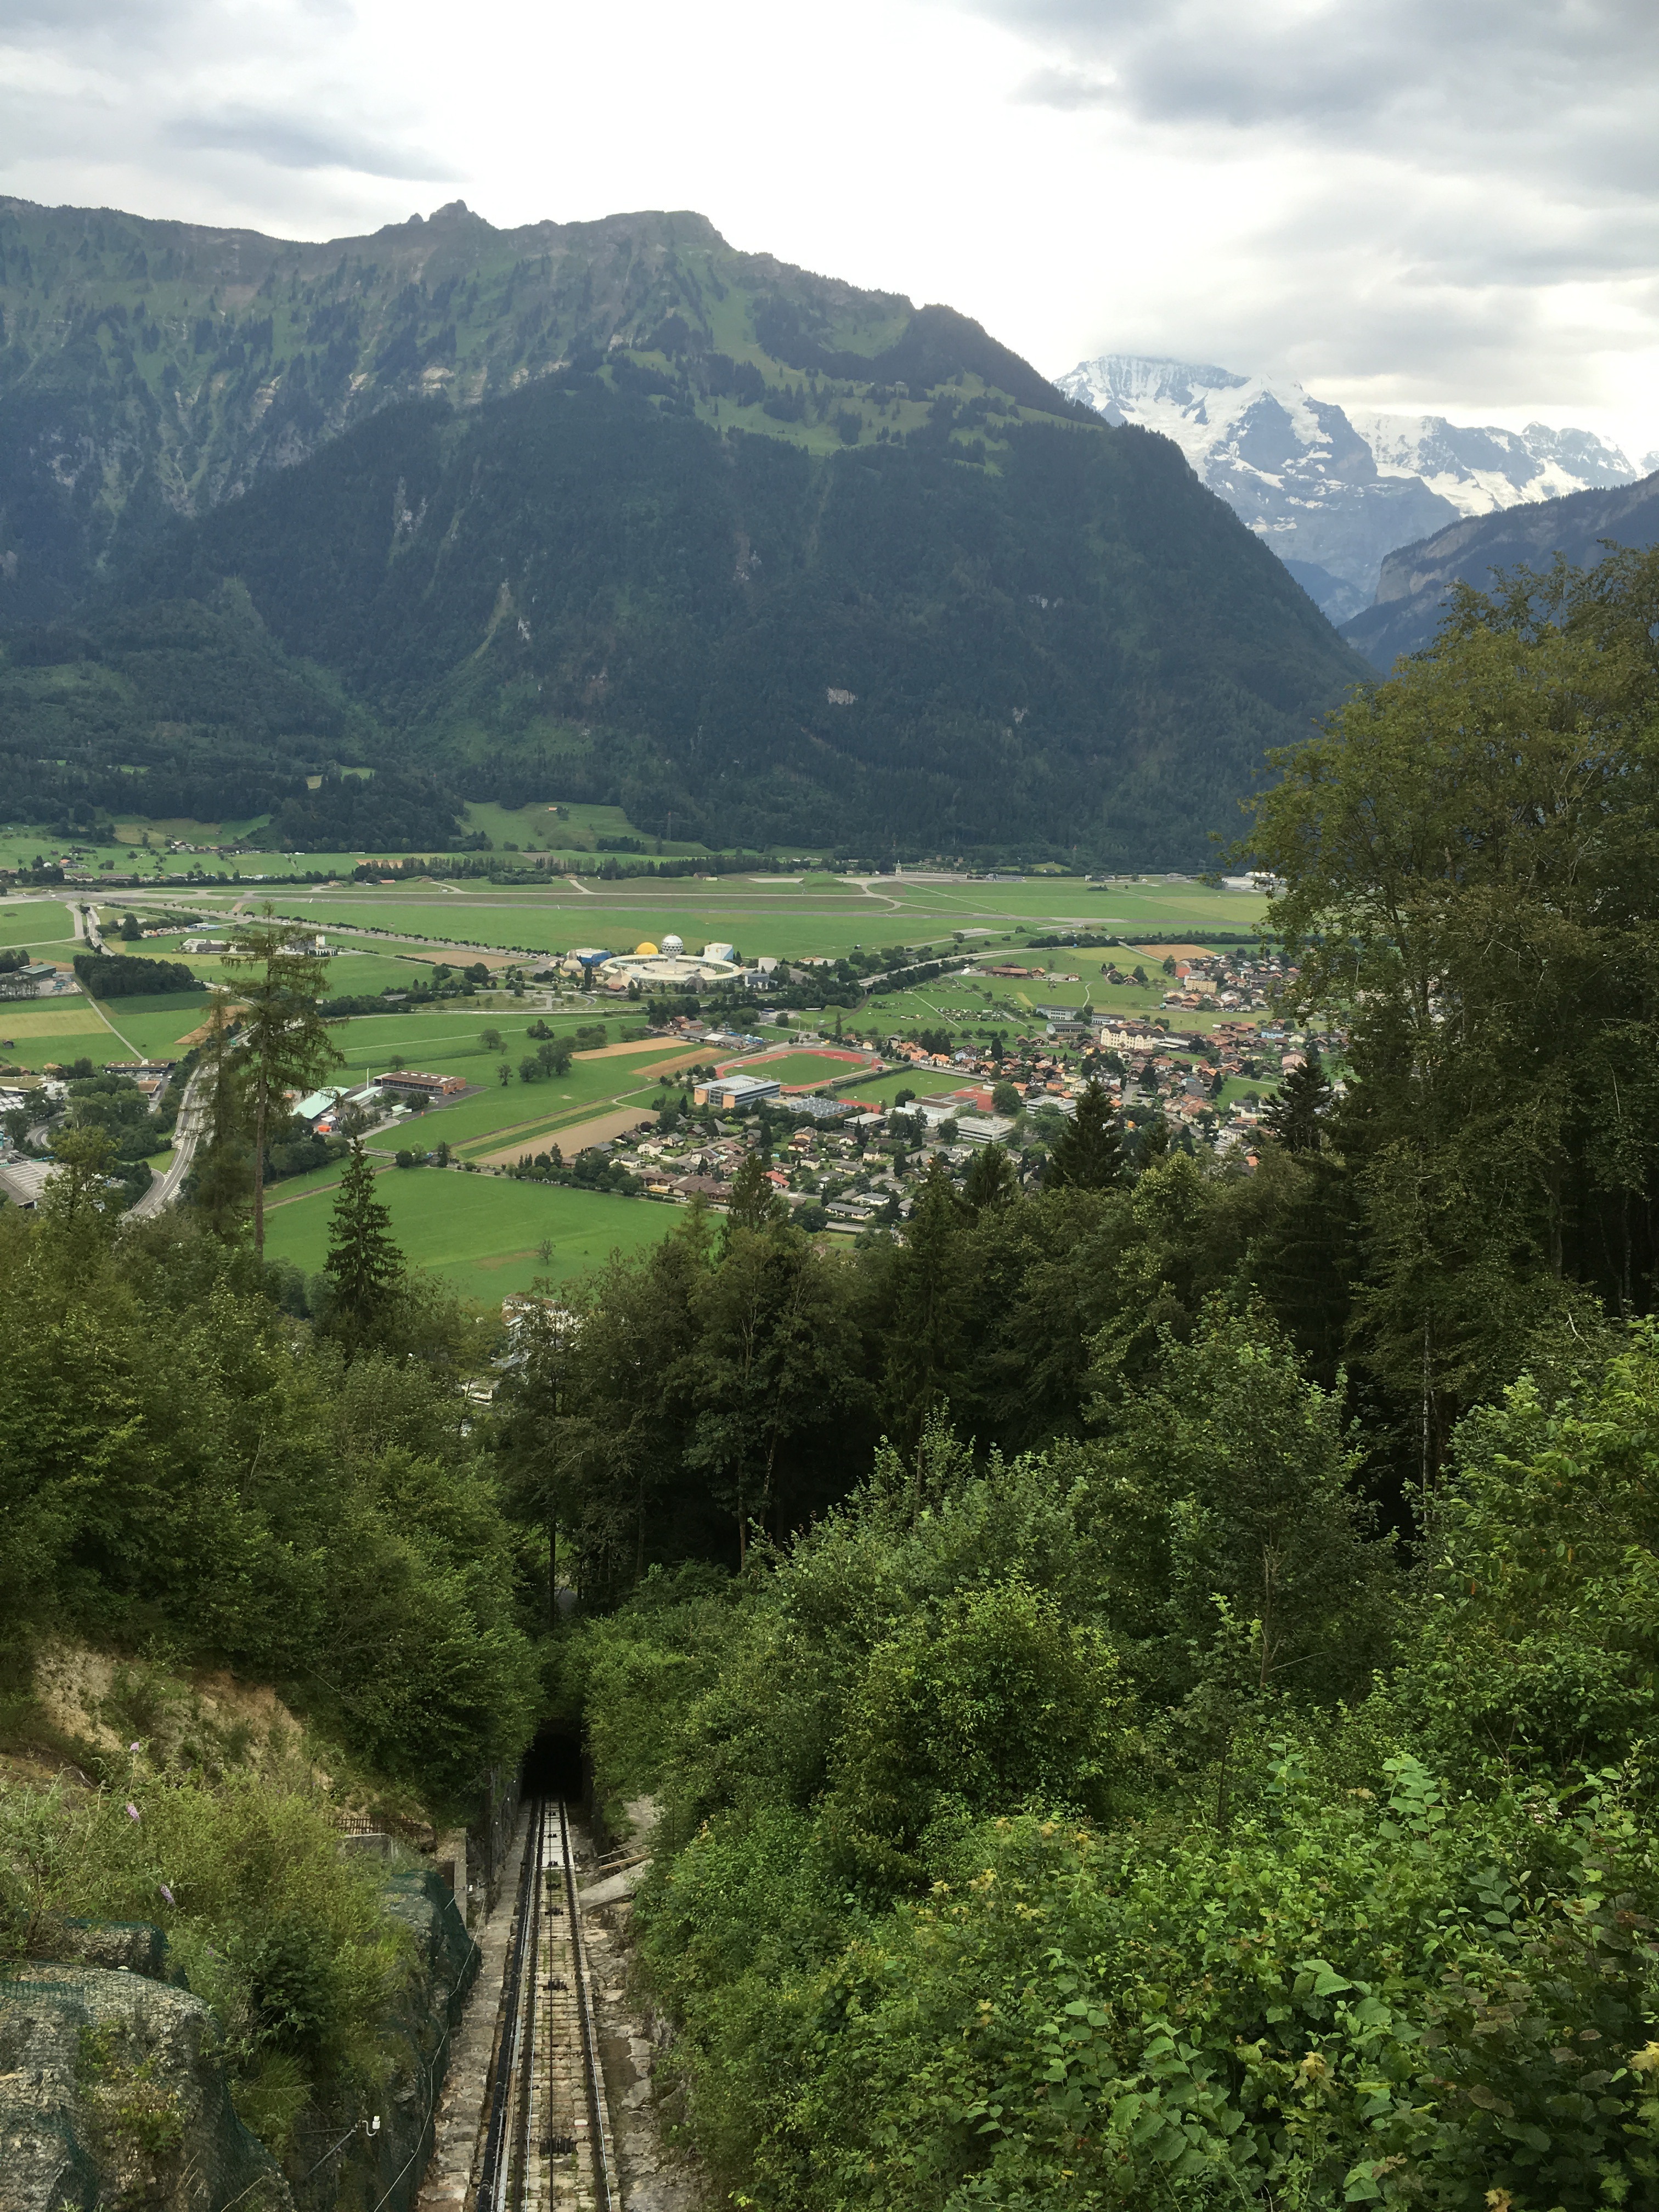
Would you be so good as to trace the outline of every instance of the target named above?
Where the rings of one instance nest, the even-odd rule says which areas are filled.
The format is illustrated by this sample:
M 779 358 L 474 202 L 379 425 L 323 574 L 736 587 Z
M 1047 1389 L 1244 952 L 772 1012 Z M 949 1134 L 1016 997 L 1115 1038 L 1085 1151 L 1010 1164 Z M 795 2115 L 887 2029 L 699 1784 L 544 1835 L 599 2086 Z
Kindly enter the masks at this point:
M 58 1201 L 0 1217 L 0 1245 L 13 1630 L 157 1639 L 283 1683 L 383 1774 L 467 1803 L 526 1741 L 535 1670 L 442 1329 L 429 1360 L 347 1369 L 184 1225 L 115 1245 Z

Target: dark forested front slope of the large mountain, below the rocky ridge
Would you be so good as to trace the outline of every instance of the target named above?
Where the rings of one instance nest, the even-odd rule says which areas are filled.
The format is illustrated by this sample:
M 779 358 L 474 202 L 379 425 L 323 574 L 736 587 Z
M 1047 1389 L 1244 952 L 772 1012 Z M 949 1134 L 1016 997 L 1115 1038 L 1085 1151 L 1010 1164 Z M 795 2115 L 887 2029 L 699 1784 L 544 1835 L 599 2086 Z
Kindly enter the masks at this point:
M 818 458 L 566 372 L 376 418 L 144 584 L 239 580 L 473 790 L 533 770 L 710 841 L 1201 856 L 1345 650 L 1166 440 L 971 427 L 947 398 Z

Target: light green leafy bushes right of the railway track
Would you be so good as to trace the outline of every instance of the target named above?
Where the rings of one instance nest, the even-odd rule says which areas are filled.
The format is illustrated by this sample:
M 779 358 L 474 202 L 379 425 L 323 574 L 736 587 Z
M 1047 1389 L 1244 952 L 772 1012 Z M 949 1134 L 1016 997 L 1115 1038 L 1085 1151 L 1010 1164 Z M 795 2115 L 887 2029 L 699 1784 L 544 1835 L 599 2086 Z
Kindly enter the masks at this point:
M 1334 1402 L 1219 1310 L 1099 1444 L 978 1471 L 931 1427 L 772 1573 L 586 1630 L 595 1745 L 666 1805 L 641 1958 L 717 2179 L 1646 2201 L 1652 1332 L 1568 1391 L 1464 1422 L 1391 1650 Z

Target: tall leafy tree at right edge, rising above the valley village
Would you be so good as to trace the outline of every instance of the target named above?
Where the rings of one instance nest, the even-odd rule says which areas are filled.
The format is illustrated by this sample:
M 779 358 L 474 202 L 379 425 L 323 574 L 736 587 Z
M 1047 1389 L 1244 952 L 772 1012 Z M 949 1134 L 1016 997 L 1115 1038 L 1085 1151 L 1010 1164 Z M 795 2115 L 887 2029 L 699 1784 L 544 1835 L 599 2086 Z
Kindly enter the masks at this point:
M 1657 595 L 1652 551 L 1460 593 L 1256 810 L 1296 1004 L 1352 1031 L 1327 1141 L 1425 1493 L 1531 1332 L 1652 1303 Z

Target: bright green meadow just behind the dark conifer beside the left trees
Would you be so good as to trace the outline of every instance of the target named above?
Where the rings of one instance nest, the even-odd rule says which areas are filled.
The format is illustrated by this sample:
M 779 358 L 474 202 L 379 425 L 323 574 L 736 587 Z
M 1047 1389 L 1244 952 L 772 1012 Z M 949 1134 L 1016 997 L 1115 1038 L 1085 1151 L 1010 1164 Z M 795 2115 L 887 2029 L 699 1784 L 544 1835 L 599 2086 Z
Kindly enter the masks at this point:
M 265 1252 L 305 1274 L 327 1256 L 327 1190 L 338 1170 L 279 1183 L 265 1217 Z M 292 1194 L 312 1188 L 314 1197 Z M 557 1183 L 515 1183 L 498 1175 L 414 1168 L 376 1179 L 392 1210 L 392 1234 L 416 1267 L 429 1267 L 469 1298 L 495 1305 L 535 1276 L 564 1283 L 604 1265 L 611 1252 L 637 1252 L 668 1234 L 679 1208 L 653 1199 L 613 1199 Z M 288 1203 L 283 1203 L 288 1201 Z M 540 1245 L 551 1243 L 551 1259 Z

